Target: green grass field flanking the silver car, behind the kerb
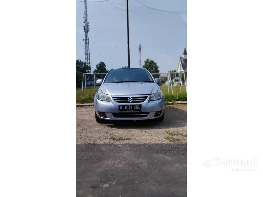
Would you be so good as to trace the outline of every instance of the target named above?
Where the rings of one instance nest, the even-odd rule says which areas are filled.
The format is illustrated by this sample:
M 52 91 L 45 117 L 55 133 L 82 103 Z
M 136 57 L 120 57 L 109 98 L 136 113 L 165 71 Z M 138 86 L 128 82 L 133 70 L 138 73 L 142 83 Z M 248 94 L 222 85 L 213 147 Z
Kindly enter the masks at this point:
M 98 90 L 99 86 L 96 87 Z M 169 94 L 168 94 L 168 86 L 160 86 L 161 90 L 165 94 L 165 99 L 167 102 L 172 101 L 187 101 L 187 94 L 185 91 L 185 86 L 181 87 L 181 93 L 179 93 L 178 87 L 173 87 L 173 93 L 171 90 L 171 86 L 169 86 Z M 77 103 L 93 103 L 94 100 L 94 86 L 87 86 L 87 90 L 83 87 L 83 94 L 81 94 L 81 87 L 76 88 L 76 102 Z

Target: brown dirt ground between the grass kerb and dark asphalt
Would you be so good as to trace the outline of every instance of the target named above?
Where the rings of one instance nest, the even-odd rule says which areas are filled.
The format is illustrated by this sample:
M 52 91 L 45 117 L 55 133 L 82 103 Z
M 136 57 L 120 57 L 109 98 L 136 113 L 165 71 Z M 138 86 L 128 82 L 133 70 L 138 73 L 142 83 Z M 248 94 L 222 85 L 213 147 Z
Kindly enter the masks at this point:
M 163 122 L 125 121 L 99 124 L 95 120 L 94 107 L 76 107 L 76 144 L 143 144 L 173 143 L 165 138 L 165 131 L 175 131 L 176 143 L 186 143 L 187 137 L 187 105 L 165 106 Z M 115 141 L 112 136 L 122 136 L 129 140 Z

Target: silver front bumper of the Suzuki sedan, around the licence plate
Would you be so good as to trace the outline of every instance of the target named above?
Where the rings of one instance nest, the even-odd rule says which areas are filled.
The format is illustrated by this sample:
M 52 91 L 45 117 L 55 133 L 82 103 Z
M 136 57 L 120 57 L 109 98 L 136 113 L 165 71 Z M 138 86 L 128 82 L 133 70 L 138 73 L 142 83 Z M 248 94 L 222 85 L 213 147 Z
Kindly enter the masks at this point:
M 94 108 L 95 113 L 100 119 L 105 120 L 149 120 L 149 119 L 156 119 L 163 115 L 165 110 L 165 97 L 163 96 L 159 100 L 150 100 L 150 95 L 139 95 L 139 96 L 148 96 L 148 98 L 141 103 L 117 103 L 113 100 L 112 96 L 110 95 L 110 101 L 102 101 L 98 100 L 96 96 L 94 97 Z M 136 97 L 135 95 L 124 95 L 125 97 Z M 147 112 L 148 115 L 145 117 L 115 117 L 113 113 L 119 113 L 119 105 L 129 105 L 129 104 L 141 104 L 142 105 L 142 112 Z M 106 116 L 101 117 L 99 112 L 104 112 Z M 162 111 L 161 115 L 154 117 L 156 111 Z

